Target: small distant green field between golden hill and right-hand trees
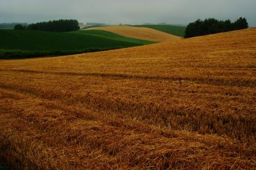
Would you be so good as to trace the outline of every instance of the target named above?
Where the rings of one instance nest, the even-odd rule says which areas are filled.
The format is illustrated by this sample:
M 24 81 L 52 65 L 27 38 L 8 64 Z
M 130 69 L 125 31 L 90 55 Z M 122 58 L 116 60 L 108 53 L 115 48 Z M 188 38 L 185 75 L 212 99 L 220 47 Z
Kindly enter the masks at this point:
M 171 26 L 171 25 L 138 25 L 135 27 L 149 27 L 158 31 L 163 31 L 171 35 L 184 37 L 186 27 L 183 26 Z

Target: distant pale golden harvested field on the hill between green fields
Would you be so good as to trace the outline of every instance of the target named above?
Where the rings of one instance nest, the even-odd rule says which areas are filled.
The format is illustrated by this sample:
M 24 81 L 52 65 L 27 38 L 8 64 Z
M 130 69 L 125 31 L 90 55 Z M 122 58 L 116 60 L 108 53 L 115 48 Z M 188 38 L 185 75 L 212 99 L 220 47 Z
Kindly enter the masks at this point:
M 93 27 L 90 29 L 99 29 L 109 31 L 118 35 L 138 38 L 141 40 L 148 40 L 153 42 L 166 42 L 173 40 L 180 40 L 179 36 L 170 35 L 162 31 L 148 27 L 132 27 L 132 26 L 106 26 L 106 27 Z

